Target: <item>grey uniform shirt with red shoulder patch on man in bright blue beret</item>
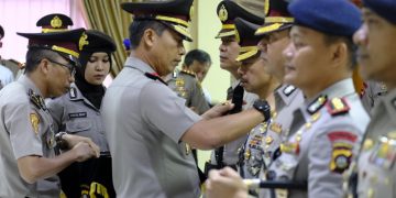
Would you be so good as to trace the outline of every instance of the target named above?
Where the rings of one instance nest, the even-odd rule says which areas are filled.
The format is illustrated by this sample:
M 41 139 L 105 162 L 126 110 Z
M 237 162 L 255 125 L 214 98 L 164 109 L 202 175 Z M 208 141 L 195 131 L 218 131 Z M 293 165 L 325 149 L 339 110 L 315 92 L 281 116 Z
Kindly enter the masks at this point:
M 342 173 L 370 121 L 352 79 L 333 84 L 293 114 L 289 138 L 267 178 L 308 183 L 307 189 L 289 190 L 288 197 L 341 197 Z

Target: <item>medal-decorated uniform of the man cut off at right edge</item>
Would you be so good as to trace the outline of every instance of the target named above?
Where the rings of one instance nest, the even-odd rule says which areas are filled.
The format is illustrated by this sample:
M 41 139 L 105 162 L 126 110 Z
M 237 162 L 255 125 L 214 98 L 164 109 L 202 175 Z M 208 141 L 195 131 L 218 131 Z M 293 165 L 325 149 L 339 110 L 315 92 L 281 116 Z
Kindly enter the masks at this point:
M 396 196 L 396 90 L 373 109 L 359 155 L 358 195 L 363 198 Z

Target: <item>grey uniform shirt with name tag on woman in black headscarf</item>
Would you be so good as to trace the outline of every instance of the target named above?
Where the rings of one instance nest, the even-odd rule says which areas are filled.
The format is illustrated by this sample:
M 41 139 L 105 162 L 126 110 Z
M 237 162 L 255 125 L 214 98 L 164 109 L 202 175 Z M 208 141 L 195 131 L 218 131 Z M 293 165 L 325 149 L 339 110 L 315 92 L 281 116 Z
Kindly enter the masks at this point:
M 68 94 L 48 100 L 47 108 L 56 132 L 90 138 L 100 152 L 109 151 L 100 111 L 82 96 L 76 85 L 72 85 Z

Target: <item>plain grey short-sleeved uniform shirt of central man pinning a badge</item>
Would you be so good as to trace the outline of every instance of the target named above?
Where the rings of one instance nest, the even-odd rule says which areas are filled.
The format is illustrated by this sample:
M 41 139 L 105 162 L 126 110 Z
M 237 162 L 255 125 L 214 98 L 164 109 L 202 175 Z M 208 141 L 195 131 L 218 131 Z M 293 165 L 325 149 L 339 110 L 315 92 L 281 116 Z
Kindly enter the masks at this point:
M 129 57 L 103 98 L 116 193 L 199 197 L 197 167 L 180 139 L 201 118 L 153 73 L 146 63 Z

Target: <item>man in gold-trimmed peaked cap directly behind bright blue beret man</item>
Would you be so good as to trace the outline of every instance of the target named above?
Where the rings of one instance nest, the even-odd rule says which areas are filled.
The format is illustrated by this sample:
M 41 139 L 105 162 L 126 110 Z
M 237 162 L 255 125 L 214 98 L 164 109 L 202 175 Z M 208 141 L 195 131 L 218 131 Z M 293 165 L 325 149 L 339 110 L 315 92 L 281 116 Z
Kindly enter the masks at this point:
M 294 18 L 287 10 L 288 2 L 284 0 L 270 0 L 265 2 L 265 23 L 256 30 L 255 34 L 262 36 L 258 47 L 262 51 L 261 56 L 264 61 L 264 69 L 277 78 L 278 81 L 284 81 L 285 76 L 285 58 L 282 52 L 289 44 L 289 31 L 294 22 Z M 265 166 L 270 164 L 279 154 L 278 147 L 282 139 L 286 136 L 289 131 L 293 112 L 304 101 L 300 89 L 293 85 L 283 84 L 274 91 L 275 107 L 271 118 L 271 123 L 267 127 L 267 132 L 264 135 L 263 146 L 265 147 L 265 155 L 263 156 Z M 261 177 L 265 177 L 267 169 L 261 169 Z

